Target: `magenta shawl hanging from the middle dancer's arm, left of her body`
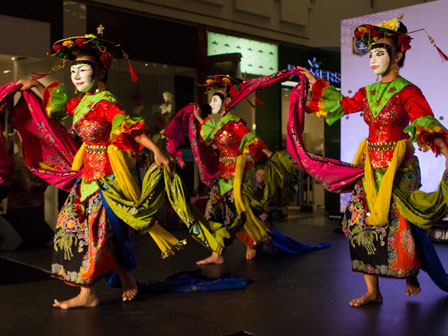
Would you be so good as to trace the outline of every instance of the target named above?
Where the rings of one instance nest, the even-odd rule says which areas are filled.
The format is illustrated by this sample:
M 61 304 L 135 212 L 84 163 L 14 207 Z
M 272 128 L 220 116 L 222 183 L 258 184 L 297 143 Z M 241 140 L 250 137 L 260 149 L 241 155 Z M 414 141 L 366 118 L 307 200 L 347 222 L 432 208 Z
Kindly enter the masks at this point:
M 195 106 L 197 105 L 188 104 L 177 112 L 166 126 L 163 135 L 167 137 L 166 149 L 168 153 L 174 157 L 179 167 L 183 168 L 185 162 L 182 158 L 180 146 L 184 143 L 188 134 L 201 181 L 211 186 L 212 181 L 219 177 L 218 155 L 201 140 L 200 125 L 193 114 Z

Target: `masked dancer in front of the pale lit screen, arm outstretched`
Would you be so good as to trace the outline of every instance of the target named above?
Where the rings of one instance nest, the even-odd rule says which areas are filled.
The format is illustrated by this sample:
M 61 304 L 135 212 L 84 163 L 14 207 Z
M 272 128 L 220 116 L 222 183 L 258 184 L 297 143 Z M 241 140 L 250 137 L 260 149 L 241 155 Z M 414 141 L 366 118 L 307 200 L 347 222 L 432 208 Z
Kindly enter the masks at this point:
M 357 178 L 362 173 L 358 168 L 347 175 L 355 184 L 343 220 L 353 271 L 364 274 L 367 286 L 364 295 L 349 302 L 355 307 L 383 301 L 378 277 L 405 279 L 406 295 L 418 294 L 421 289 L 417 274 L 420 267 L 428 271 L 425 266 L 428 253 L 436 260 L 433 264 L 442 269 L 438 275 L 430 273 L 431 277 L 447 290 L 437 254 L 419 227 L 427 228 L 431 221 L 446 213 L 440 188 L 446 187 L 448 172 L 445 171 L 437 193 L 418 191 L 420 171 L 411 141 L 416 141 L 423 150 L 431 149 L 447 158 L 448 131 L 434 118 L 419 88 L 399 75 L 410 49 L 411 38 L 406 33 L 406 27 L 398 19 L 356 28 L 355 37 L 369 45 L 370 68 L 381 80 L 361 88 L 352 98 L 343 97 L 324 79 L 316 80 L 307 69 L 298 67 L 311 84 L 307 112 L 324 116 L 331 125 L 345 114 L 363 111 L 363 119 L 369 126 L 368 138 L 360 145 L 354 161 L 363 167 L 364 178 Z M 288 150 L 303 167 L 301 158 L 309 158 L 302 156 L 300 141 L 294 135 L 298 130 L 291 125 L 294 127 L 294 120 L 288 124 L 291 135 Z M 316 162 L 313 163 L 316 166 L 305 164 L 310 167 L 308 173 L 328 189 L 337 190 L 332 179 L 338 172 L 325 172 L 328 167 L 322 166 L 323 161 Z M 344 188 L 344 183 L 339 183 L 338 188 Z

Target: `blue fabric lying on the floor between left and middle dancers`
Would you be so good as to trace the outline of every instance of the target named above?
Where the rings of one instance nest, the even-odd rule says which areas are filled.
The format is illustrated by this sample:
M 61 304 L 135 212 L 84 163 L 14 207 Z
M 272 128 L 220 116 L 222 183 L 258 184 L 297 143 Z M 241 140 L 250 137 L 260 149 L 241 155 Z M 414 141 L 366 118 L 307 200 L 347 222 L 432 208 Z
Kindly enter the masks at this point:
M 190 272 L 176 273 L 162 282 L 152 284 L 139 283 L 139 293 L 185 293 L 241 289 L 246 287 L 250 282 L 251 280 L 249 278 L 233 277 L 229 274 L 222 274 L 219 278 L 209 278 L 204 276 L 202 271 L 198 269 Z

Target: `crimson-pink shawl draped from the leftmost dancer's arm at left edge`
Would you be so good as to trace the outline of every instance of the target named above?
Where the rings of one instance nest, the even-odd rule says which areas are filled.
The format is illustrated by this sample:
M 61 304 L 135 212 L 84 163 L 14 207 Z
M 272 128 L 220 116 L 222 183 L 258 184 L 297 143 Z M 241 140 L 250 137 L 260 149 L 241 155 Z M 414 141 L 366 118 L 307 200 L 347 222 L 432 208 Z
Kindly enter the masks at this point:
M 0 104 L 13 99 L 21 85 L 15 82 L 0 88 Z M 23 143 L 28 169 L 59 189 L 70 191 L 81 176 L 71 169 L 78 144 L 55 120 L 48 119 L 41 100 L 32 91 L 23 91 L 13 110 L 13 127 Z

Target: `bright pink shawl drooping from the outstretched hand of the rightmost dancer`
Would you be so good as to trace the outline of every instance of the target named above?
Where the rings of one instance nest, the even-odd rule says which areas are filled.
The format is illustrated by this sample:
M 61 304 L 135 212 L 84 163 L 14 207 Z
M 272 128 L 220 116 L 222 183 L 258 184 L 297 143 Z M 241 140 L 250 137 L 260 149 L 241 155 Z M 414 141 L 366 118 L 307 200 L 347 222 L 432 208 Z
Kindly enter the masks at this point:
M 300 83 L 291 91 L 289 98 L 286 136 L 288 153 L 326 190 L 337 193 L 351 192 L 356 181 L 364 174 L 362 168 L 308 153 L 303 146 L 308 81 L 304 75 L 300 77 Z

